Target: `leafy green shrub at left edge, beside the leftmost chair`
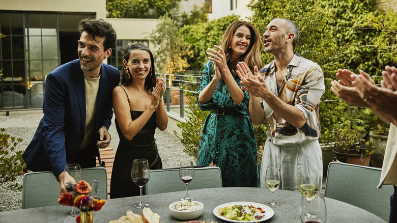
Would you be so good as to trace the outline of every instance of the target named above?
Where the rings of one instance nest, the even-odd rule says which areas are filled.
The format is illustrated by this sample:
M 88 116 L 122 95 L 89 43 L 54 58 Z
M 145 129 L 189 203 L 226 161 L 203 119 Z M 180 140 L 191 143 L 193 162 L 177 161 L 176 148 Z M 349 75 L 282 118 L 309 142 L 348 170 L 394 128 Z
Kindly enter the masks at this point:
M 21 189 L 15 180 L 21 176 L 25 162 L 22 159 L 23 151 L 15 151 L 22 138 L 15 138 L 5 134 L 6 129 L 0 128 L 0 186 L 4 189 Z

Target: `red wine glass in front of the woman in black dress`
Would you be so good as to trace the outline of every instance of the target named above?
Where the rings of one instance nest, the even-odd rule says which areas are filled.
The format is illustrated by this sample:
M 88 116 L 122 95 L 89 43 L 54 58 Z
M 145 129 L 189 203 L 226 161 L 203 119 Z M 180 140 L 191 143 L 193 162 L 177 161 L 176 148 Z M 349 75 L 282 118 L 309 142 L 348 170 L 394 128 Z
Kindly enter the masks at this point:
M 139 187 L 140 202 L 134 204 L 135 208 L 149 207 L 148 203 L 142 203 L 142 187 L 149 181 L 150 170 L 147 159 L 134 159 L 131 170 L 132 181 Z

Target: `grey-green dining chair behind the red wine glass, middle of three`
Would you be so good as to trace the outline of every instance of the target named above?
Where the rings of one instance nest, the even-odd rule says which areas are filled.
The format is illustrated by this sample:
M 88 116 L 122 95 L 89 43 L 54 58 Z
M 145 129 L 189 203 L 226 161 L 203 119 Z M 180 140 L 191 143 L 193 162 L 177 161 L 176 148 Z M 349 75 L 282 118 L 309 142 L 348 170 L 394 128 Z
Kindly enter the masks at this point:
M 194 177 L 189 190 L 222 187 L 222 177 L 217 166 L 194 168 Z M 151 170 L 150 179 L 145 185 L 146 194 L 186 190 L 186 184 L 179 177 L 179 168 Z

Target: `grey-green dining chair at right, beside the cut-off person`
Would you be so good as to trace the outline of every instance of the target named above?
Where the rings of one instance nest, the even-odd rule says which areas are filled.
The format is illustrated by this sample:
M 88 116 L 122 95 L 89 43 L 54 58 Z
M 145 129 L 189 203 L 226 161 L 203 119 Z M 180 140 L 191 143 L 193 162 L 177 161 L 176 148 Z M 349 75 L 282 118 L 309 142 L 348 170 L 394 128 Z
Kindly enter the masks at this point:
M 380 168 L 330 162 L 324 197 L 342 201 L 389 220 L 392 185 L 377 188 Z

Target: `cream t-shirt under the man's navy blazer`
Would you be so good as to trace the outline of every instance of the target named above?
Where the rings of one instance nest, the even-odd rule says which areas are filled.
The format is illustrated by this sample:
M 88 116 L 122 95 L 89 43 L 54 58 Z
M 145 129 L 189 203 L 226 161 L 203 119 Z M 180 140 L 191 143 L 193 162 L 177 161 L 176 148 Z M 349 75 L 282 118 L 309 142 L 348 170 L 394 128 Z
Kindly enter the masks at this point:
M 86 132 L 84 134 L 84 140 L 80 146 L 80 149 L 84 149 L 92 143 L 92 138 L 95 137 L 95 119 L 98 102 L 98 89 L 99 79 L 91 78 L 84 75 L 84 86 L 86 87 Z

